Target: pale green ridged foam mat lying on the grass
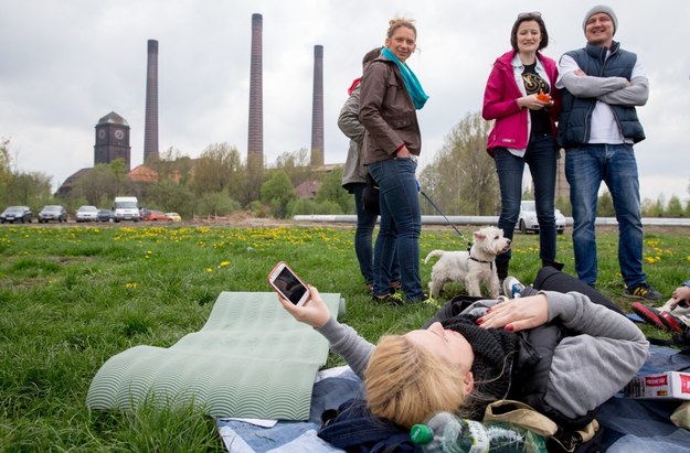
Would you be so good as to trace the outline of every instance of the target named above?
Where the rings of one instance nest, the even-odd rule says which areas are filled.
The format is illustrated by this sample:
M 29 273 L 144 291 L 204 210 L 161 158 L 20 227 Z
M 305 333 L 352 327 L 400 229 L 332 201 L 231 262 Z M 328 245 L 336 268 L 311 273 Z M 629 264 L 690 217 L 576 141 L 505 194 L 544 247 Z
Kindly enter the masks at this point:
M 342 313 L 338 293 L 321 293 Z M 275 292 L 222 292 L 199 332 L 169 348 L 135 346 L 96 373 L 86 406 L 189 405 L 214 417 L 307 420 L 328 342 L 283 309 Z

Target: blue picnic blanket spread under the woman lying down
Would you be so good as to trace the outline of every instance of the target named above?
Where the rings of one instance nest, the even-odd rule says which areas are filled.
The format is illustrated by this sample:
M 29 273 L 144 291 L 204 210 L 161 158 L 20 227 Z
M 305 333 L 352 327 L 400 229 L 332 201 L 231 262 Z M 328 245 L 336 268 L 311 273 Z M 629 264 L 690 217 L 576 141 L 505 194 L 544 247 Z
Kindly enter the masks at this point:
M 665 346 L 650 346 L 650 356 L 640 375 L 690 369 L 690 355 Z M 231 453 L 341 452 L 316 434 L 321 413 L 361 396 L 359 378 L 348 367 L 319 371 L 314 385 L 309 420 L 278 421 L 270 428 L 217 419 L 216 425 Z M 604 427 L 603 449 L 607 453 L 690 453 L 690 431 L 670 422 L 679 400 L 637 400 L 616 395 L 605 402 L 596 417 Z

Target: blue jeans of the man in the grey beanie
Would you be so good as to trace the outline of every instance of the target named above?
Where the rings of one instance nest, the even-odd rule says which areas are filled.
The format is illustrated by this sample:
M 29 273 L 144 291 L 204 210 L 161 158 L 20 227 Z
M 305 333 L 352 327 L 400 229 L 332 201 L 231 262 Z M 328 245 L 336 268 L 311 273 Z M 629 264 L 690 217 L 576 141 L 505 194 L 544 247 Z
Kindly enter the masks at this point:
M 596 206 L 606 183 L 618 220 L 618 266 L 628 288 L 647 281 L 643 272 L 643 223 L 637 162 L 631 144 L 583 144 L 565 152 L 565 176 L 573 205 L 575 270 L 583 282 L 597 278 Z

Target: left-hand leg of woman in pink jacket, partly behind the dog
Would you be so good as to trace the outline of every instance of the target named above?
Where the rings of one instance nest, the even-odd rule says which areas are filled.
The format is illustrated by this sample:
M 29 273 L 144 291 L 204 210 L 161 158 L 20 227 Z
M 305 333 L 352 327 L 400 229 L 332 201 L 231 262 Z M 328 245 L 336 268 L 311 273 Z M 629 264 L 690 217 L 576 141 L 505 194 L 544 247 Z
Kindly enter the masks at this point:
M 493 153 L 496 174 L 501 191 L 501 213 L 498 217 L 498 227 L 503 230 L 503 237 L 512 241 L 512 236 L 520 215 L 520 202 L 522 201 L 522 172 L 524 160 L 512 155 L 505 148 L 497 148 Z M 508 265 L 511 251 L 496 257 L 496 270 L 498 279 L 508 277 Z

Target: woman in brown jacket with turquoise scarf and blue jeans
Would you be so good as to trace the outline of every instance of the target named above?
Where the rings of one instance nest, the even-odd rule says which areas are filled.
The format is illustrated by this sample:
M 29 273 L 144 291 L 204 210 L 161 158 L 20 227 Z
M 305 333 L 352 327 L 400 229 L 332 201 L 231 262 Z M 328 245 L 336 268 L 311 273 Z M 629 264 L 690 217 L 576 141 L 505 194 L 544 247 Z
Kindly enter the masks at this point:
M 394 301 L 389 282 L 396 248 L 406 301 L 426 299 L 420 278 L 422 214 L 415 171 L 422 148 L 416 110 L 428 96 L 405 64 L 415 51 L 416 35 L 412 21 L 392 20 L 381 56 L 367 66 L 362 77 L 359 119 L 365 128 L 364 164 L 380 187 L 375 301 Z

